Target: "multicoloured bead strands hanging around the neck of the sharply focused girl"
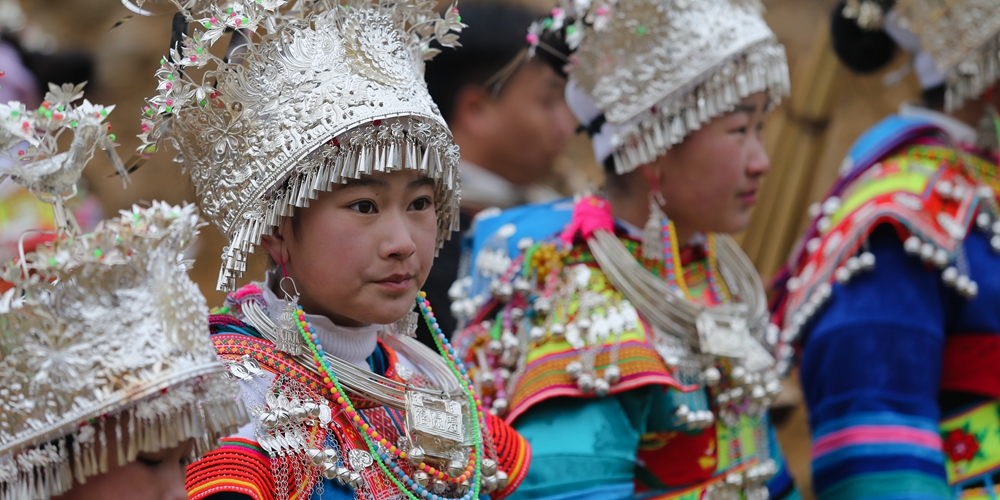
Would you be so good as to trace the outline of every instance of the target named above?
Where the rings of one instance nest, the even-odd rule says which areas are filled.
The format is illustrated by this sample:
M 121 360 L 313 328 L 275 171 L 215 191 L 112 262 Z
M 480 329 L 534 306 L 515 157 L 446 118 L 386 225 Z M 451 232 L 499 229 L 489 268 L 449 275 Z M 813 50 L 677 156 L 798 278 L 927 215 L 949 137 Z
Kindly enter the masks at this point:
M 420 303 L 420 299 L 418 299 L 418 303 Z M 424 299 L 423 303 L 426 304 L 426 299 Z M 425 309 L 429 312 L 430 306 L 427 305 L 426 308 L 422 307 L 421 311 L 423 312 Z M 424 317 L 425 320 L 427 320 L 428 324 L 430 325 L 431 324 L 430 321 L 433 319 L 433 315 L 431 315 L 430 319 L 428 319 L 427 313 L 425 313 Z M 399 490 L 403 494 L 405 494 L 407 498 L 410 498 L 411 500 L 420 500 L 420 498 L 411 493 L 411 491 L 415 492 L 417 495 L 420 495 L 420 497 L 424 499 L 429 499 L 429 500 L 443 499 L 444 497 L 432 493 L 428 491 L 425 487 L 416 484 L 416 482 L 412 478 L 410 478 L 403 471 L 402 467 L 400 467 L 396 463 L 396 461 L 390 456 L 393 455 L 398 460 L 405 460 L 407 457 L 406 452 L 403 452 L 402 450 L 398 449 L 395 445 L 390 444 L 384 436 L 379 434 L 379 432 L 376 431 L 368 423 L 367 419 L 364 418 L 364 415 L 358 412 L 357 409 L 354 407 L 354 404 L 347 396 L 347 392 L 343 389 L 343 387 L 341 387 L 339 380 L 337 380 L 337 377 L 334 374 L 333 370 L 330 368 L 329 363 L 327 363 L 325 359 L 326 352 L 323 350 L 323 346 L 319 342 L 319 337 L 316 335 L 315 329 L 309 324 L 309 320 L 306 318 L 305 311 L 303 311 L 301 306 L 299 306 L 299 308 L 296 311 L 296 324 L 298 325 L 299 333 L 302 335 L 303 340 L 305 340 L 307 347 L 309 348 L 310 352 L 313 355 L 313 360 L 316 363 L 316 368 L 323 375 L 322 384 L 330 392 L 331 396 L 333 396 L 333 400 L 337 404 L 341 405 L 341 408 L 347 414 L 348 418 L 352 420 L 353 425 L 355 426 L 356 429 L 358 429 L 359 433 L 361 434 L 361 437 L 365 440 L 365 443 L 368 445 L 369 452 L 375 459 L 375 463 L 377 463 L 379 468 L 382 469 L 382 472 L 385 473 L 386 477 L 388 477 L 389 480 L 392 481 L 392 483 L 397 488 L 399 488 Z M 436 319 L 433 319 L 433 324 L 437 326 Z M 440 331 L 440 327 L 437 327 L 437 330 Z M 445 354 L 445 352 L 442 350 L 442 354 L 444 354 L 445 358 L 451 362 L 450 367 L 452 368 L 452 371 L 456 373 L 456 376 L 458 376 L 458 372 L 455 370 L 454 366 L 454 359 L 453 359 L 454 350 L 450 350 L 450 354 Z M 464 372 L 464 368 L 462 369 L 462 371 Z M 461 379 L 461 377 L 459 378 Z M 466 377 L 464 380 L 466 381 L 466 386 L 468 386 L 468 377 Z M 478 402 L 475 401 L 474 394 L 470 391 L 467 394 L 467 396 L 470 397 L 470 403 L 474 404 L 477 408 L 477 411 L 479 411 Z M 453 484 L 459 484 L 467 479 L 471 479 L 472 484 L 470 487 L 470 491 L 467 492 L 462 497 L 460 497 L 462 500 L 471 500 L 472 498 L 476 498 L 479 495 L 482 437 L 480 433 L 480 425 L 479 425 L 480 421 L 476 419 L 474 420 L 474 423 L 476 424 L 474 426 L 475 427 L 474 435 L 476 436 L 476 441 L 474 443 L 473 451 L 471 453 L 472 456 L 470 456 L 470 465 L 466 469 L 465 473 L 460 475 L 458 478 L 452 478 L 444 474 L 443 472 L 434 469 L 433 467 L 427 466 L 424 463 L 421 463 L 417 466 L 419 470 L 426 472 L 432 478 L 448 481 Z

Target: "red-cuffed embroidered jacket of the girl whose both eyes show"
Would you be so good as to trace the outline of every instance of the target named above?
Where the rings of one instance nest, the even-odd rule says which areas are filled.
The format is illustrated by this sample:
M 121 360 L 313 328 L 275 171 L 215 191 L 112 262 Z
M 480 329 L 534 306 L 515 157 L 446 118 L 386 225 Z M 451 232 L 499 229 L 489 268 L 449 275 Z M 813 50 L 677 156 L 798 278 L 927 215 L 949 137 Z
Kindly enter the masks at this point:
M 323 390 L 325 384 L 243 322 L 240 303 L 246 300 L 264 300 L 258 285 L 248 285 L 230 294 L 223 313 L 212 316 L 210 325 L 219 356 L 230 372 L 241 379 L 241 393 L 237 397 L 244 399 L 255 418 L 236 435 L 223 439 L 217 451 L 189 466 L 189 498 L 200 500 L 215 494 L 224 494 L 220 497 L 225 498 L 239 494 L 253 500 L 403 498 L 384 471 L 372 463 L 358 427 L 360 423 L 355 425 L 340 404 L 328 399 L 329 392 Z M 387 378 L 414 385 L 424 383 L 419 367 L 381 340 L 368 363 L 374 373 Z M 316 419 L 319 425 L 312 422 L 300 431 L 269 432 L 264 421 L 267 415 L 278 409 L 287 410 L 291 399 L 321 402 Z M 403 411 L 359 395 L 351 394 L 351 400 L 362 422 L 371 424 L 389 442 L 400 441 L 406 427 Z M 489 416 L 487 427 L 483 429 L 484 450 L 495 456 L 498 469 L 509 477 L 508 484 L 494 492 L 492 498 L 504 498 L 523 481 L 531 450 L 500 419 Z M 306 456 L 306 448 L 336 450 L 335 459 L 359 472 L 361 484 L 353 487 L 350 483 L 325 479 Z M 416 471 L 410 464 L 402 461 L 397 464 L 401 464 L 409 477 L 414 476 Z M 430 493 L 427 498 L 431 498 Z

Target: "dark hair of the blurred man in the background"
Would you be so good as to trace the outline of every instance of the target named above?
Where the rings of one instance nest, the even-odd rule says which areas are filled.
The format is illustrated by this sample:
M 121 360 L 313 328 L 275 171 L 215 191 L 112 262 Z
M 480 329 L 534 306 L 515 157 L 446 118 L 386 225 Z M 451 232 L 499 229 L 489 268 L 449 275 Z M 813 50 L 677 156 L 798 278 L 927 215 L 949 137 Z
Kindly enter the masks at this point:
M 535 18 L 526 7 L 495 2 L 467 4 L 461 11 L 468 25 L 459 38 L 462 46 L 443 49 L 424 73 L 431 98 L 449 122 L 463 89 L 481 87 L 527 48 L 525 37 Z

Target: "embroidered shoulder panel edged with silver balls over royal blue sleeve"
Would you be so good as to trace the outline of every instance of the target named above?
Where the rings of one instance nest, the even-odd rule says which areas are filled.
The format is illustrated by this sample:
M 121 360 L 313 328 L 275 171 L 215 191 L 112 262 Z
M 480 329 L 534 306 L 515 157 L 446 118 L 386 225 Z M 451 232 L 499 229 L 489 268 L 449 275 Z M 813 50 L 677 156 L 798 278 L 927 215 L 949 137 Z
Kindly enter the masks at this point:
M 874 255 L 864 245 L 881 224 L 896 228 L 908 253 L 942 270 L 954 266 L 983 200 L 995 207 L 994 191 L 971 175 L 988 170 L 983 160 L 927 142 L 911 142 L 872 164 L 811 209 L 813 221 L 792 254 L 790 277 L 779 287 L 784 295 L 775 319 L 786 342 L 796 339 L 834 283 L 874 268 Z M 993 217 L 986 217 L 989 228 Z

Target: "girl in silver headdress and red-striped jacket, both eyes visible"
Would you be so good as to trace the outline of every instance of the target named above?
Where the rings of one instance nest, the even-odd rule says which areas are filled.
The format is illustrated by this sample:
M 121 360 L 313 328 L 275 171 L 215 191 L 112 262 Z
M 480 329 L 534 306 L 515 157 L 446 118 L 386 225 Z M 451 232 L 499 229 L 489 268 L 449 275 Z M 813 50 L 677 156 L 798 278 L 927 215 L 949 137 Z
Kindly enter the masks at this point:
M 159 72 L 143 151 L 179 147 L 230 241 L 220 288 L 235 288 L 258 243 L 275 266 L 210 320 L 254 418 L 191 466 L 191 498 L 506 496 L 528 448 L 481 408 L 419 294 L 459 198 L 422 58 L 432 40 L 455 44 L 458 11 L 203 7 Z M 220 60 L 208 45 L 227 29 L 232 58 Z M 409 336 L 419 316 L 440 354 Z

